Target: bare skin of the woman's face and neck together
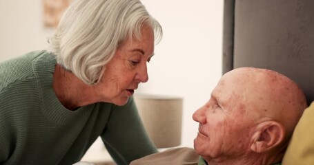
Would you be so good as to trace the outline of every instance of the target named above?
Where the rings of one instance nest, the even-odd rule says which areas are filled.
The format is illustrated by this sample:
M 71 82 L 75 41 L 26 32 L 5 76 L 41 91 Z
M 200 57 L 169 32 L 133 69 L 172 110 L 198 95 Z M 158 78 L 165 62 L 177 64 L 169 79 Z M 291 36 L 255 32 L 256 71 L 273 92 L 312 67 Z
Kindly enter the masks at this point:
M 133 37 L 122 43 L 96 85 L 83 83 L 60 65 L 55 67 L 53 88 L 64 107 L 74 110 L 95 102 L 124 105 L 139 83 L 148 81 L 147 63 L 154 54 L 154 32 L 144 26 L 141 39 Z

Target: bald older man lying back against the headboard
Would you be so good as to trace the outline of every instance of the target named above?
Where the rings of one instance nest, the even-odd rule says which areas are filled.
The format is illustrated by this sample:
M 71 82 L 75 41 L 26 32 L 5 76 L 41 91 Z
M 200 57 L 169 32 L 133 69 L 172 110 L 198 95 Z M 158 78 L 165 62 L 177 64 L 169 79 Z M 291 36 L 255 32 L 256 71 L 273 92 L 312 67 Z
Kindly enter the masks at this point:
M 306 107 L 303 91 L 286 76 L 268 69 L 234 69 L 193 114 L 199 122 L 194 151 L 174 148 L 131 164 L 280 164 Z

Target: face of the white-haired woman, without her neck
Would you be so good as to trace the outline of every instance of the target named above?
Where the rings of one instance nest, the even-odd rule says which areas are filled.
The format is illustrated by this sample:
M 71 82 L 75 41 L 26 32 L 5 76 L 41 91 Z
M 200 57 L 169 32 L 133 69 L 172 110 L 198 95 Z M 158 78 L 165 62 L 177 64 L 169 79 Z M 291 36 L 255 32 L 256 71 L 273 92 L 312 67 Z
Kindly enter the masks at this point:
M 97 100 L 124 105 L 133 96 L 139 83 L 148 81 L 147 63 L 154 52 L 152 28 L 141 30 L 141 39 L 128 39 L 106 65 L 106 70 L 97 83 Z

